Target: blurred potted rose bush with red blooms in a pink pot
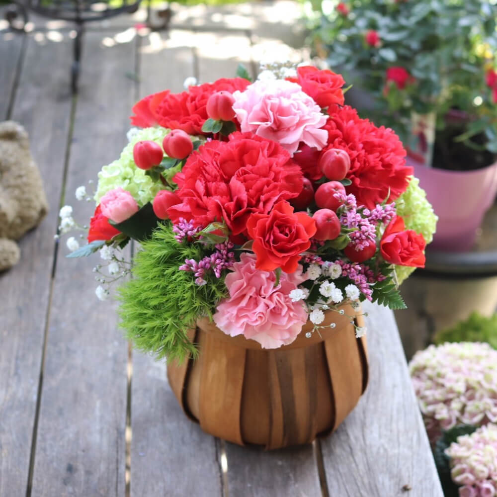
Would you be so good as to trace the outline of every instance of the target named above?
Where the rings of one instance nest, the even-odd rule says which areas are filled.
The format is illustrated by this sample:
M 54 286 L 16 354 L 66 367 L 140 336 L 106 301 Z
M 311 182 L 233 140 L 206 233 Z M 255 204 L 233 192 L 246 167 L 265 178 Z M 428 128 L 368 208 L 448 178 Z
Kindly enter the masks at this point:
M 359 110 L 405 144 L 440 218 L 433 247 L 470 248 L 497 190 L 495 2 L 312 5 L 318 54 L 353 83 Z M 357 88 L 370 98 L 354 98 Z

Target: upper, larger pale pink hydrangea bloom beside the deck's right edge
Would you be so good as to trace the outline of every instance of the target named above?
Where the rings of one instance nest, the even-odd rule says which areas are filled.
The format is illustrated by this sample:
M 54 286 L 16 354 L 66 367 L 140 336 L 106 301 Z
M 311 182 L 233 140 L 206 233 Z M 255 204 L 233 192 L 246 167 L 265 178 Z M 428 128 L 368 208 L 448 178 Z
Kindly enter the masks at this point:
M 497 350 L 488 343 L 430 345 L 410 370 L 432 443 L 457 424 L 497 422 Z

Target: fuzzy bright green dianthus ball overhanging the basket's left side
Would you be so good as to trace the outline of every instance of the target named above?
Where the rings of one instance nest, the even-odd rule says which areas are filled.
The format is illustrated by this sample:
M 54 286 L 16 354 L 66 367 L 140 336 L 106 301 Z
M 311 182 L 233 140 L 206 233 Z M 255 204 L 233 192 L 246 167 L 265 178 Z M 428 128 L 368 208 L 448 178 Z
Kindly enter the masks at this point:
M 186 331 L 198 317 L 212 316 L 226 296 L 224 280 L 206 276 L 207 284 L 199 286 L 193 273 L 178 271 L 185 259 L 205 253 L 201 244 L 178 244 L 170 224 L 159 225 L 142 248 L 133 278 L 119 289 L 121 326 L 138 349 L 181 361 L 196 353 Z

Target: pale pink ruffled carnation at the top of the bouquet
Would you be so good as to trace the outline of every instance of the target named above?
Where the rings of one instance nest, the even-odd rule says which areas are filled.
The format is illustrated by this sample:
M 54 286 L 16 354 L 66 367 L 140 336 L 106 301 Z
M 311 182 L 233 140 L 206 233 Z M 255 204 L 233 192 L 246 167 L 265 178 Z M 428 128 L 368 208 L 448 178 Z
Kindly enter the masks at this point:
M 256 81 L 233 93 L 233 109 L 243 132 L 279 142 L 293 154 L 304 142 L 321 150 L 328 141 L 327 117 L 297 83 Z

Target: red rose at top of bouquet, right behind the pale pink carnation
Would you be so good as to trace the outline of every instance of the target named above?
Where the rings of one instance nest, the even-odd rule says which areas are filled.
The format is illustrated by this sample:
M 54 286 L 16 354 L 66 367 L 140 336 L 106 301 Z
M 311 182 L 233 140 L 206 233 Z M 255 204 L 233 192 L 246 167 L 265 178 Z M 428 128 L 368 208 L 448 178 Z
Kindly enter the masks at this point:
M 299 83 L 321 108 L 330 107 L 334 103 L 343 105 L 344 97 L 341 87 L 345 81 L 339 74 L 328 69 L 320 71 L 314 66 L 301 66 L 297 68 L 297 78 L 290 81 Z

